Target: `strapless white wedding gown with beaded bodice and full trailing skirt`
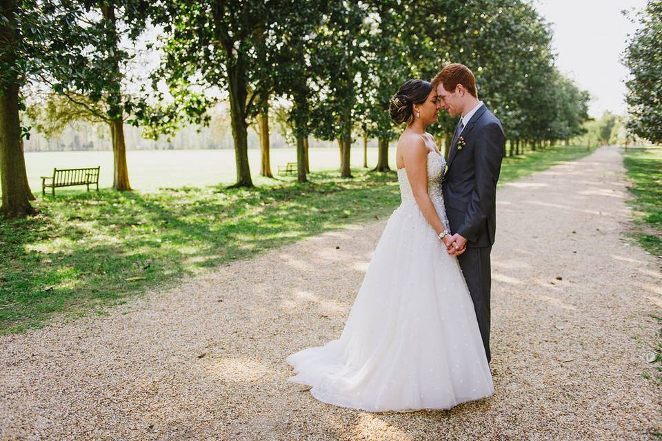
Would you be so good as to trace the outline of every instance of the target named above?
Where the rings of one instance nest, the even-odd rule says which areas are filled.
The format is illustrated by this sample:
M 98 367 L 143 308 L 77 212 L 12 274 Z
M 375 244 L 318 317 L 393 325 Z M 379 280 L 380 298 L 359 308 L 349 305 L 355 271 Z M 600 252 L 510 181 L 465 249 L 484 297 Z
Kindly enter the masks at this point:
M 443 156 L 428 154 L 428 192 L 443 225 Z M 474 306 L 457 258 L 419 209 L 404 169 L 401 205 L 377 244 L 339 340 L 292 354 L 293 382 L 365 411 L 449 409 L 492 395 Z

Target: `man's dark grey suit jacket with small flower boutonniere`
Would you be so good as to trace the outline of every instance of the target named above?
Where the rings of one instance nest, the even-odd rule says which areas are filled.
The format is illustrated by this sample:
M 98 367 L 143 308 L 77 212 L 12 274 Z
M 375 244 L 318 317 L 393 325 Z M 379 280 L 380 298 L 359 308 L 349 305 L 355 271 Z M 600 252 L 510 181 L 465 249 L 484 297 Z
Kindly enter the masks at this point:
M 496 230 L 496 181 L 505 154 L 501 122 L 485 105 L 461 133 L 465 145 L 451 146 L 443 180 L 443 201 L 452 233 L 468 240 L 468 247 L 489 247 Z

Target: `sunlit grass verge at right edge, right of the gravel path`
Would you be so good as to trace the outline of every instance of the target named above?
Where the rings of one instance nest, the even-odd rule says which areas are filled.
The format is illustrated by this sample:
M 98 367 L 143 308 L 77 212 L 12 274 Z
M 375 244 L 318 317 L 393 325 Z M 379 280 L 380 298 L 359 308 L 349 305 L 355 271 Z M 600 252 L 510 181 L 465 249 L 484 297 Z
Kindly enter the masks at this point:
M 634 194 L 634 236 L 648 252 L 662 256 L 662 148 L 629 149 L 623 163 Z

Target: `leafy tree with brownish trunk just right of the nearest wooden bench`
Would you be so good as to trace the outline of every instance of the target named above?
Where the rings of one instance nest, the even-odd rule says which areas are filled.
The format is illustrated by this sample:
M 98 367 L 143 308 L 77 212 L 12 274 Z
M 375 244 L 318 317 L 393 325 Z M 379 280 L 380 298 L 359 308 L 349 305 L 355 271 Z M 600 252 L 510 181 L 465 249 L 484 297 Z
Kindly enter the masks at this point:
M 127 78 L 127 64 L 135 56 L 129 46 L 146 29 L 149 3 L 78 0 L 67 1 L 64 7 L 76 8 L 79 13 L 68 17 L 67 25 L 57 36 L 58 43 L 73 44 L 82 50 L 43 72 L 40 81 L 78 107 L 74 114 L 79 118 L 108 125 L 113 152 L 112 186 L 130 190 L 123 125 L 125 121 L 137 125 L 133 110 L 140 107 L 144 98 L 126 93 L 126 83 L 134 80 Z M 48 100 L 57 101 L 53 97 Z M 70 120 L 73 119 L 72 115 Z

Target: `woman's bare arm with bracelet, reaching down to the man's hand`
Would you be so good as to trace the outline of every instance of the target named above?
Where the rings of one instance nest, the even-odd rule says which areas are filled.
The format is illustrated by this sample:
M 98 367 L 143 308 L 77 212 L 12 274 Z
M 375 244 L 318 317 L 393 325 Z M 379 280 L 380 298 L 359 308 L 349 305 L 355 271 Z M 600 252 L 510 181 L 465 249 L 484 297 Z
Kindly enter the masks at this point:
M 419 205 L 423 216 L 428 220 L 437 234 L 443 232 L 444 227 L 434 208 L 430 194 L 428 194 L 428 149 L 423 139 L 411 141 L 410 145 L 402 145 L 402 158 L 405 163 L 405 173 L 412 187 L 414 199 Z M 450 234 L 446 234 L 443 242 L 448 246 Z

